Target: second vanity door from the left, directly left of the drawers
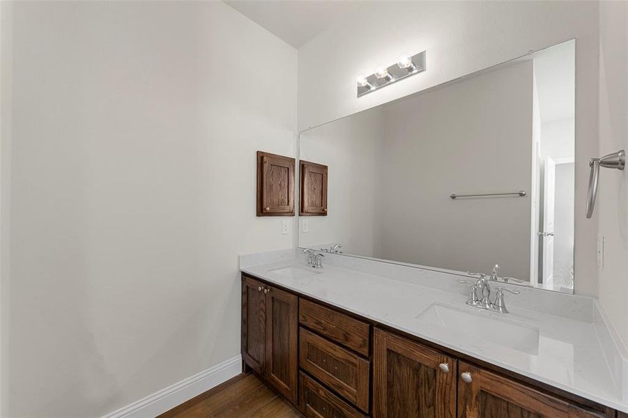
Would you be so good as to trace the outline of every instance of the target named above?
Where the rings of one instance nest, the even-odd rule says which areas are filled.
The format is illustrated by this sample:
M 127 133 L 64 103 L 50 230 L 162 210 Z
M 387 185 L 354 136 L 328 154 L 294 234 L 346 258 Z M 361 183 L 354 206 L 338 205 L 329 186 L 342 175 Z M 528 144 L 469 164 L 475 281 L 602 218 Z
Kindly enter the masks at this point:
M 266 381 L 296 404 L 298 297 L 268 287 L 266 294 Z

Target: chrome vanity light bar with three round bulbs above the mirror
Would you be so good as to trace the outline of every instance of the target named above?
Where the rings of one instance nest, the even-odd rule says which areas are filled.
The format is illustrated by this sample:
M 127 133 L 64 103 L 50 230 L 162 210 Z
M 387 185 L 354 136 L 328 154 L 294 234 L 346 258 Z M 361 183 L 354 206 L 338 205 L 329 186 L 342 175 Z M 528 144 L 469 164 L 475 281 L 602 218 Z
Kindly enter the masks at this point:
M 425 51 L 415 55 L 403 54 L 399 56 L 397 63 L 389 65 L 378 65 L 375 72 L 367 77 L 359 75 L 356 79 L 358 84 L 358 98 L 378 88 L 396 83 L 406 77 L 425 71 Z

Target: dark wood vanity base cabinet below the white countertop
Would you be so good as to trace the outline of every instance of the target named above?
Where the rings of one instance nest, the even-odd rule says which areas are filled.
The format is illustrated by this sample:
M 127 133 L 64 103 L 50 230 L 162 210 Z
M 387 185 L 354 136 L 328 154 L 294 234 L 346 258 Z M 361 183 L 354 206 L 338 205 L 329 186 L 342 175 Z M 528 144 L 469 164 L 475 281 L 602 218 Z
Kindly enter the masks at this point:
M 242 355 L 305 417 L 628 418 L 244 274 Z

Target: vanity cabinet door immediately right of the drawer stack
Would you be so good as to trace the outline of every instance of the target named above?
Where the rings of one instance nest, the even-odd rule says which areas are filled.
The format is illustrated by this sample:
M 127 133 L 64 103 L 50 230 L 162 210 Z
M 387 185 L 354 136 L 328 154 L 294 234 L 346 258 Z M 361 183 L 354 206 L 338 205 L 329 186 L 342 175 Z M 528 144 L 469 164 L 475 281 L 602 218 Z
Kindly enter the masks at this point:
M 390 332 L 374 334 L 373 416 L 454 418 L 457 360 Z

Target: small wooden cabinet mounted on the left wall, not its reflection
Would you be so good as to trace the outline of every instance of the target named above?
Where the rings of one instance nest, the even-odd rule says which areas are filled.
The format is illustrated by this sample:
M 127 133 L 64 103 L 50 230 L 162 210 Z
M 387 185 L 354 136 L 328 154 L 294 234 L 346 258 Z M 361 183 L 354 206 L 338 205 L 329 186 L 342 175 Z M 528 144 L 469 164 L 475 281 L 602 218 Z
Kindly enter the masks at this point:
M 257 216 L 294 216 L 291 157 L 257 151 Z

